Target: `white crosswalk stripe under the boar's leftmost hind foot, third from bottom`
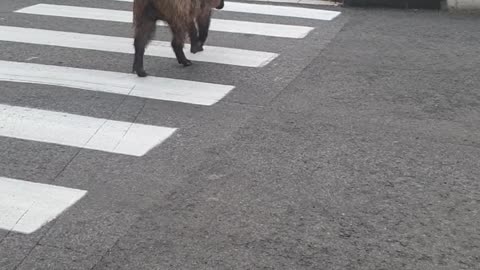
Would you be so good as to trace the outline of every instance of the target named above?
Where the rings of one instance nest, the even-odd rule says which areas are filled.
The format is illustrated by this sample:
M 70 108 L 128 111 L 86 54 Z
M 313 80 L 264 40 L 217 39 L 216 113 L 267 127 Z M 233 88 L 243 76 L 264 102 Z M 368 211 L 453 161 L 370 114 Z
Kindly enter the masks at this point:
M 9 62 L 0 60 L 0 81 L 56 85 L 82 90 L 213 105 L 234 86 L 111 71 Z

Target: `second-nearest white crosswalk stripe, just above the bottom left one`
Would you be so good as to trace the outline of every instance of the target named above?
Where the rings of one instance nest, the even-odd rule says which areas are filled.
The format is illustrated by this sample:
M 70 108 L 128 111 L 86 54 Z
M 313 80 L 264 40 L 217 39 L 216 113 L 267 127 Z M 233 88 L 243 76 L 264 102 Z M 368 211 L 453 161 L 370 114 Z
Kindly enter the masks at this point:
M 143 156 L 175 128 L 0 105 L 0 136 Z

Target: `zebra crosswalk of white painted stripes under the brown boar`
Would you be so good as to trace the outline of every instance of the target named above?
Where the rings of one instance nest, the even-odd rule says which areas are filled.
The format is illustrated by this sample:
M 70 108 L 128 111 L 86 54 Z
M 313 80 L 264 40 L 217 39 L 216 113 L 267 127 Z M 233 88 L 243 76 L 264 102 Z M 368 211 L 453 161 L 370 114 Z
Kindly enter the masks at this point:
M 123 5 L 125 2 L 132 2 L 132 0 L 105 1 Z M 41 16 L 49 20 L 69 18 L 76 20 L 78 24 L 105 21 L 126 26 L 132 21 L 131 11 L 95 7 L 95 2 L 90 2 L 88 5 L 90 6 L 36 3 L 21 7 L 15 10 L 14 14 Z M 231 1 L 226 2 L 225 8 L 220 12 L 326 22 L 340 15 L 340 12 L 332 10 Z M 158 24 L 165 26 L 162 22 Z M 87 51 L 112 55 L 132 55 L 133 53 L 131 38 L 110 33 L 91 34 L 61 31 L 58 28 L 45 29 L 38 24 L 33 26 L 34 28 L 32 25 L 22 27 L 0 25 L 0 47 L 2 44 L 13 43 L 31 46 L 32 50 L 38 47 L 67 48 L 75 50 L 78 55 Z M 314 29 L 312 25 L 214 18 L 210 30 L 219 34 L 254 35 L 259 38 L 274 37 L 301 42 Z M 197 54 L 190 54 L 187 45 L 185 52 L 193 61 L 231 68 L 254 69 L 259 73 L 262 68 L 280 57 L 280 54 L 262 48 L 251 50 L 211 45 L 206 46 L 204 52 Z M 154 58 L 175 58 L 169 40 L 152 41 L 147 47 L 146 55 Z M 111 59 L 114 57 L 112 56 Z M 105 59 L 105 61 L 111 59 Z M 162 63 L 170 65 L 173 62 Z M 54 65 L 30 63 L 25 59 L 0 59 L 0 83 L 44 85 L 57 87 L 65 92 L 108 93 L 208 108 L 235 91 L 234 82 L 218 84 L 208 81 L 209 78 L 205 78 L 204 81 L 156 76 L 138 78 L 129 73 L 129 70 L 114 72 L 101 68 L 97 70 L 70 67 L 69 63 Z M 79 115 L 68 111 L 0 104 L 0 140 L 10 138 L 55 144 L 84 149 L 83 151 L 99 151 L 132 158 L 147 155 L 181 128 L 112 120 L 108 117 Z M 2 195 L 0 196 L 0 230 L 28 234 L 35 232 L 74 205 L 87 194 L 87 191 L 38 184 L 35 179 L 20 180 L 0 175 L 0 193 Z

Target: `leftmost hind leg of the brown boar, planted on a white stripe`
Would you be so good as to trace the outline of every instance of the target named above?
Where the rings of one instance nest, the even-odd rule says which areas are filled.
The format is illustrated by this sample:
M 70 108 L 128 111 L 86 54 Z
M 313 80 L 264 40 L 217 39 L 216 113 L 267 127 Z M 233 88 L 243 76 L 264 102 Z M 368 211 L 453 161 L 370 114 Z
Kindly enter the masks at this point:
M 148 7 L 146 8 L 148 9 Z M 145 54 L 145 47 L 155 34 L 155 22 L 156 19 L 143 12 L 140 19 L 135 24 L 135 59 L 133 61 L 133 72 L 137 73 L 139 77 L 147 76 L 143 67 L 143 56 Z

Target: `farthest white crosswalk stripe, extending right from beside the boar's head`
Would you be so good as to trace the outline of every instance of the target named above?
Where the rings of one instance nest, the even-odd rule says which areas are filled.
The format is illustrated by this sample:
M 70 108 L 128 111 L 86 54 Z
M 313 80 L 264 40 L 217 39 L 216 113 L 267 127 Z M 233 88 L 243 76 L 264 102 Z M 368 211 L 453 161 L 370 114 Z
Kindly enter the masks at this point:
M 133 2 L 133 0 L 116 0 L 121 2 Z M 275 6 L 262 4 L 249 4 L 226 1 L 222 11 L 232 11 L 240 13 L 253 13 L 262 15 L 295 17 L 313 20 L 331 21 L 335 19 L 341 12 L 333 10 L 291 7 L 291 6 Z

